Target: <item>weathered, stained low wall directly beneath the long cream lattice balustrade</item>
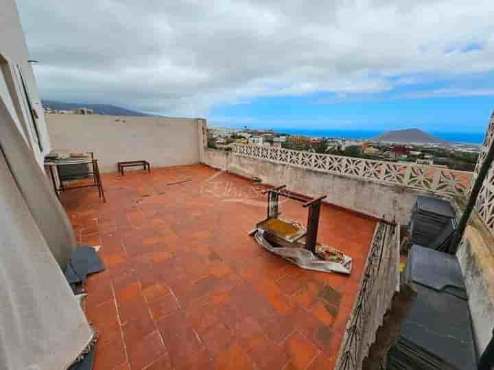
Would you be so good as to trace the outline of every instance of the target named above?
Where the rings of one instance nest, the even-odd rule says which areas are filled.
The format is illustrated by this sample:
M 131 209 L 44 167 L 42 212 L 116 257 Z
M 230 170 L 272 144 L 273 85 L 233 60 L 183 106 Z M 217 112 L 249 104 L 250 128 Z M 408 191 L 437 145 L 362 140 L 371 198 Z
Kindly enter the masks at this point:
M 231 152 L 204 149 L 202 160 L 216 169 L 248 177 L 259 177 L 270 185 L 286 184 L 289 190 L 309 196 L 327 195 L 326 201 L 374 217 L 396 217 L 398 223 L 410 221 L 420 190 L 379 184 L 344 175 L 333 175 L 273 162 L 236 156 Z

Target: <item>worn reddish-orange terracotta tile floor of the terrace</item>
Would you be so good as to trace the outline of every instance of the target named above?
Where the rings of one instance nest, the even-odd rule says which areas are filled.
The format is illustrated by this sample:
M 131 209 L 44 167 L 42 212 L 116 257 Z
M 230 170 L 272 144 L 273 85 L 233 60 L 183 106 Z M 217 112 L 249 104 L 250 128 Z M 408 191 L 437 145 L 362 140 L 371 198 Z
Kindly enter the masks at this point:
M 62 194 L 80 243 L 101 245 L 87 315 L 95 370 L 332 369 L 375 222 L 322 207 L 319 240 L 351 276 L 298 269 L 248 236 L 266 215 L 252 182 L 202 165 L 103 176 Z M 296 201 L 284 217 L 305 223 Z

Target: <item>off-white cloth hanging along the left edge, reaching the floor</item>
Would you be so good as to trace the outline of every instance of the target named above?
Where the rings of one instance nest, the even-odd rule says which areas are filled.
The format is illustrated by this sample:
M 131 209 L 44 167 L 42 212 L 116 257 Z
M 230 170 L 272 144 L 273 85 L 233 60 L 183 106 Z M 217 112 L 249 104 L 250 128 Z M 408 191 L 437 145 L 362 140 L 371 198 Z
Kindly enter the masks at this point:
M 30 151 L 13 147 L 15 132 L 0 99 L 0 369 L 65 370 L 94 334 L 50 250 L 51 240 L 61 247 L 67 235 L 49 230 L 66 227 L 54 221 L 60 209 L 47 206 L 44 175 Z M 13 164 L 25 164 L 21 175 L 14 176 Z

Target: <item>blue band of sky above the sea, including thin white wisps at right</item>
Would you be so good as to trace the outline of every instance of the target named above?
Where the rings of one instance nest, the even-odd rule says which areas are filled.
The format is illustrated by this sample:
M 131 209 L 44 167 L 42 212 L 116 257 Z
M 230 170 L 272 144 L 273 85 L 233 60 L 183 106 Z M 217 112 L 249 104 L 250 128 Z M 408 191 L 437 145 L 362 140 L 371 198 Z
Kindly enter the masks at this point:
M 235 127 L 364 131 L 416 127 L 429 132 L 485 132 L 494 110 L 493 73 L 417 80 L 421 83 L 386 93 L 248 99 L 213 107 L 209 120 Z

